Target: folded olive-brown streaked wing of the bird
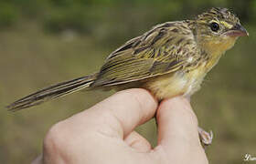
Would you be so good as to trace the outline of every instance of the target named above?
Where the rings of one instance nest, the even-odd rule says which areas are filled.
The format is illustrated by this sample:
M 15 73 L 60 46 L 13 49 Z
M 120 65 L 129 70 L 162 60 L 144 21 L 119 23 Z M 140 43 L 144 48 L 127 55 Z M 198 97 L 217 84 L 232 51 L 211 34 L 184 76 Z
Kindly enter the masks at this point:
M 113 86 L 175 72 L 196 53 L 187 22 L 155 26 L 116 49 L 101 67 L 92 87 Z

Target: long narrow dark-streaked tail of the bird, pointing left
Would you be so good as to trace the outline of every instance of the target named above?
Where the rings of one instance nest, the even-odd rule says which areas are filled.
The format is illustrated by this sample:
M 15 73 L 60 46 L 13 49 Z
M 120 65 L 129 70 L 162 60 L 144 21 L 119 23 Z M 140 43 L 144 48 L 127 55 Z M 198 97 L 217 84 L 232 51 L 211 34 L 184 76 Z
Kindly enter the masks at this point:
M 73 80 L 65 81 L 51 87 L 46 87 L 38 90 L 36 93 L 28 95 L 27 97 L 20 98 L 7 106 L 8 110 L 16 111 L 22 108 L 29 108 L 37 106 L 57 97 L 63 97 L 70 93 L 76 92 L 80 89 L 90 87 L 91 83 L 95 80 L 96 74 L 86 77 L 79 77 Z

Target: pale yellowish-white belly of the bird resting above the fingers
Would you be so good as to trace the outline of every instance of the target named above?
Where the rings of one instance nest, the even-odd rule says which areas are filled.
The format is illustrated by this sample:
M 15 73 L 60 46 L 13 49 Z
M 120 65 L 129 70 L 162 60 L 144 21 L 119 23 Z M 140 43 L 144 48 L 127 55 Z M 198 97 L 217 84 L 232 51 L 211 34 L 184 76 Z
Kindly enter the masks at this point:
M 158 99 L 186 96 L 190 97 L 199 88 L 206 73 L 195 69 L 189 73 L 177 71 L 157 77 L 146 83 L 146 87 L 153 92 Z

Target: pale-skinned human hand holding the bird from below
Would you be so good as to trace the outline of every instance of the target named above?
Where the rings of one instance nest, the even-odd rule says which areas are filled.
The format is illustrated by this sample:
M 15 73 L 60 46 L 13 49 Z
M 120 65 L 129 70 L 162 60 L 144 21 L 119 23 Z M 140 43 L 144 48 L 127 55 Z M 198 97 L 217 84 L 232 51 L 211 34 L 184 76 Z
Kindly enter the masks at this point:
M 157 146 L 134 128 L 155 116 Z M 197 117 L 185 97 L 155 98 L 140 88 L 123 90 L 60 121 L 44 139 L 33 164 L 208 164 Z

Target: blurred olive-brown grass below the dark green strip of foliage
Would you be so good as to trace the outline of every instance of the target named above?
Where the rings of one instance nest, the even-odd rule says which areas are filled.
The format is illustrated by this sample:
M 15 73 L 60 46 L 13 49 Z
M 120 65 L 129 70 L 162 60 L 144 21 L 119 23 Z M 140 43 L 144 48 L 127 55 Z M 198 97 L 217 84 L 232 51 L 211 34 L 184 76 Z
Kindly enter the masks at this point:
M 207 151 L 210 163 L 239 164 L 246 153 L 255 155 L 255 40 L 253 33 L 241 38 L 192 97 L 200 126 L 215 134 Z M 101 38 L 72 32 L 49 35 L 35 22 L 0 31 L 0 107 L 37 88 L 97 71 L 112 52 L 111 47 L 117 46 L 105 46 Z M 41 153 L 48 128 L 111 94 L 81 92 L 16 113 L 1 108 L 0 163 L 28 163 L 35 159 Z M 138 131 L 155 144 L 154 120 Z

